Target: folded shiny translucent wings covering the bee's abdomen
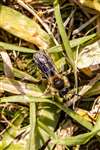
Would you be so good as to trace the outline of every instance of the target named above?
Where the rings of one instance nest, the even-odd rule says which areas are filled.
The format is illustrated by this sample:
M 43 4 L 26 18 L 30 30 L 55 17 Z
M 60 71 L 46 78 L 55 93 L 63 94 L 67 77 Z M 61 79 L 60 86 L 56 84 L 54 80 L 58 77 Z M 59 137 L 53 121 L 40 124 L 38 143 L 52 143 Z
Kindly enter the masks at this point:
M 38 68 L 47 76 L 51 77 L 55 75 L 56 69 L 52 63 L 51 58 L 44 52 L 39 51 L 34 54 L 34 61 Z

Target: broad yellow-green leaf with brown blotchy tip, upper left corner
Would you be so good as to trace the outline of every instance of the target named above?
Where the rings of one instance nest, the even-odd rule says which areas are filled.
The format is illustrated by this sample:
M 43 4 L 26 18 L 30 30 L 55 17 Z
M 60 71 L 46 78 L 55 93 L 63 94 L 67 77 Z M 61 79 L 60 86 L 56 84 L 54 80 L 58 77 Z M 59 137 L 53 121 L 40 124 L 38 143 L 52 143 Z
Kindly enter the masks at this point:
M 3 5 L 0 5 L 0 27 L 41 49 L 52 45 L 49 35 L 34 20 Z

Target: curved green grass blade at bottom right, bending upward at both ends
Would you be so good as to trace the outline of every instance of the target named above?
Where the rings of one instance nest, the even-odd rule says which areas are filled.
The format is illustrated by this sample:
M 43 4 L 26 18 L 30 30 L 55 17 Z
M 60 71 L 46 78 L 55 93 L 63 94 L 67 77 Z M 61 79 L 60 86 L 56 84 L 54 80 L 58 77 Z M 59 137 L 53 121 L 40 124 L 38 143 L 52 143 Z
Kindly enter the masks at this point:
M 80 134 L 77 136 L 71 136 L 71 137 L 66 137 L 66 138 L 62 138 L 62 137 L 58 137 L 54 132 L 52 132 L 45 124 L 43 124 L 42 122 L 38 121 L 39 126 L 45 130 L 48 135 L 50 135 L 52 141 L 55 144 L 63 144 L 63 145 L 67 145 L 67 146 L 71 146 L 71 145 L 77 145 L 77 144 L 85 144 L 87 143 L 94 135 L 97 134 L 97 132 L 99 130 L 91 131 L 89 133 L 84 133 L 84 134 Z

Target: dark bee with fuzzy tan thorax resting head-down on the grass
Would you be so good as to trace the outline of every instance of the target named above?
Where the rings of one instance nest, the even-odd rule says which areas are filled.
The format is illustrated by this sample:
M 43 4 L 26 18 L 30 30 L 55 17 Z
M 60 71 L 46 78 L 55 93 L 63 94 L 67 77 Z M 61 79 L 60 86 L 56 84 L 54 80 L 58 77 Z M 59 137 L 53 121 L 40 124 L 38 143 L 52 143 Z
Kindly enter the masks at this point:
M 45 51 L 39 51 L 34 54 L 33 59 L 60 97 L 64 97 L 68 92 L 68 80 L 65 81 L 65 79 L 57 72 L 51 58 Z

